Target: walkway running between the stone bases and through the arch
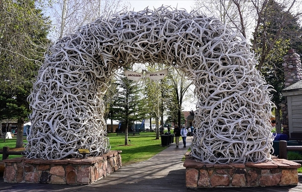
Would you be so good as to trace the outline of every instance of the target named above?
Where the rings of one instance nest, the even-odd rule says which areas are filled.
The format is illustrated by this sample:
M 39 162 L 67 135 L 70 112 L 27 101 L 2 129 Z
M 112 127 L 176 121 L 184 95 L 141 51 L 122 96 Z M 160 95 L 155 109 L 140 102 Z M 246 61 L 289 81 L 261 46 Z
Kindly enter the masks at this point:
M 187 146 L 191 144 L 191 137 L 187 138 Z M 0 180 L 0 190 L 5 191 L 106 191 L 106 192 L 134 192 L 134 191 L 302 191 L 298 186 L 275 187 L 245 187 L 245 188 L 197 188 L 186 187 L 186 169 L 183 166 L 187 148 L 183 148 L 180 141 L 179 148 L 175 143 L 170 144 L 162 152 L 147 161 L 123 166 L 107 177 L 89 185 L 42 184 L 42 183 L 5 183 Z M 300 178 L 299 178 L 300 180 Z M 300 181 L 301 182 L 301 181 Z

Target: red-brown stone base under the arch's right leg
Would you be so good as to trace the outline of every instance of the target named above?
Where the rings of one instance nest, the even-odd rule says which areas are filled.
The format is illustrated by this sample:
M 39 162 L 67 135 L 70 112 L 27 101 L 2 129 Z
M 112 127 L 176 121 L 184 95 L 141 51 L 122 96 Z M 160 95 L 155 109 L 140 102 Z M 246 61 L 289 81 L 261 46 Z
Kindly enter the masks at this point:
M 188 188 L 297 185 L 297 168 L 301 167 L 293 161 L 277 158 L 261 163 L 209 164 L 190 158 L 189 153 L 186 157 Z

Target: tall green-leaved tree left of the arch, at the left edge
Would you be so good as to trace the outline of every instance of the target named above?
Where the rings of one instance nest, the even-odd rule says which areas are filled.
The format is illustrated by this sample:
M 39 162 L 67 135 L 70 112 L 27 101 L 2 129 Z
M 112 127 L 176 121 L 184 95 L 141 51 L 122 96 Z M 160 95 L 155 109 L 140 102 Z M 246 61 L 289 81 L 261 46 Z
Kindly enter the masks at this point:
M 1 105 L 11 110 L 6 118 L 18 119 L 16 147 L 23 146 L 23 123 L 30 113 L 27 97 L 44 58 L 48 24 L 35 1 L 0 4 L 0 90 L 7 99 Z

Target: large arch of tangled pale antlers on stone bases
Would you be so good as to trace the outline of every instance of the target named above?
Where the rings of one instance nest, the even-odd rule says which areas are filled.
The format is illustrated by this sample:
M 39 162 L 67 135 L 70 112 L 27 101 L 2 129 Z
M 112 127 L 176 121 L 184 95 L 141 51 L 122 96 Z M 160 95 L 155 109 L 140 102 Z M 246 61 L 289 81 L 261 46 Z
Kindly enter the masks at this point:
M 79 148 L 106 153 L 106 83 L 116 68 L 135 62 L 164 62 L 194 81 L 192 156 L 211 163 L 270 159 L 270 89 L 246 39 L 216 18 L 169 7 L 100 18 L 51 47 L 29 97 L 27 157 L 61 159 Z

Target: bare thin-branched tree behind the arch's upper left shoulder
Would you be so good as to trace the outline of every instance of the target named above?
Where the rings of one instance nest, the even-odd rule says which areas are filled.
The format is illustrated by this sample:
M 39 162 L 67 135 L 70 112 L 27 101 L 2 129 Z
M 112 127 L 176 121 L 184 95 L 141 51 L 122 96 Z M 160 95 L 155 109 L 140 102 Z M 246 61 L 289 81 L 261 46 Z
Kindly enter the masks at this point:
M 128 9 L 129 5 L 122 0 L 59 0 L 40 6 L 50 11 L 52 18 L 52 40 L 61 39 L 68 34 L 100 17 L 107 17 L 110 12 L 116 13 Z

